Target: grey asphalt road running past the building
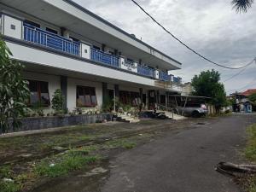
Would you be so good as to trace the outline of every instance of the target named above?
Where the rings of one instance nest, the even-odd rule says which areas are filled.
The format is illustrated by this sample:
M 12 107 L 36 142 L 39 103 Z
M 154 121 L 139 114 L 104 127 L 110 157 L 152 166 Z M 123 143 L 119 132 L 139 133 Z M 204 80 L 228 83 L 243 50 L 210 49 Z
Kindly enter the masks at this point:
M 211 121 L 212 122 L 212 121 Z M 247 125 L 255 115 L 233 115 L 119 154 L 102 192 L 236 192 L 219 161 L 241 162 Z

